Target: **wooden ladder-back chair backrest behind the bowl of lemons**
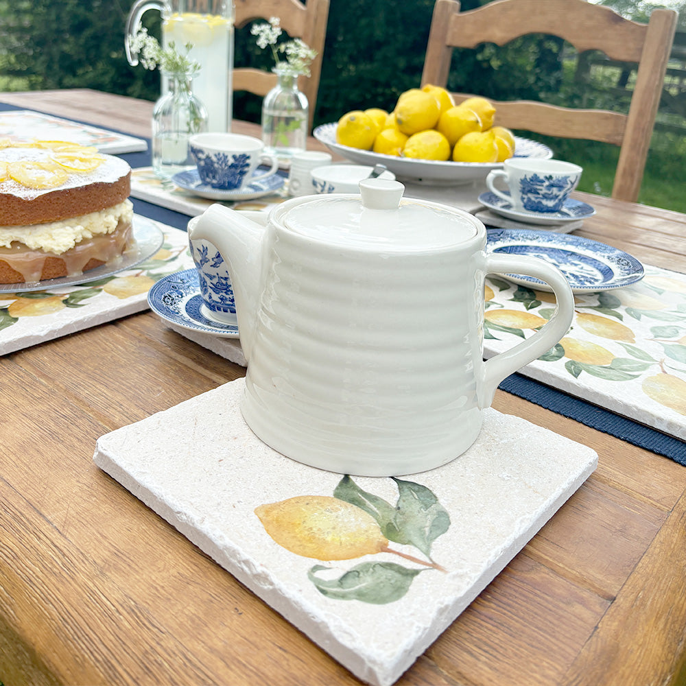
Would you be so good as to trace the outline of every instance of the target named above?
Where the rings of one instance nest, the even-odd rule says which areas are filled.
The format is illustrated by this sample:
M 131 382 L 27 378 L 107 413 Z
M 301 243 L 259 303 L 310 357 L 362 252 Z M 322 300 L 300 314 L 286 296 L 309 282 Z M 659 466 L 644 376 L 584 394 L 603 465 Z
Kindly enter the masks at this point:
M 495 0 L 467 12 L 460 12 L 458 0 L 436 0 L 422 84 L 447 84 L 453 47 L 473 48 L 480 43 L 504 45 L 534 33 L 563 38 L 579 52 L 598 49 L 611 60 L 637 62 L 628 115 L 525 100 L 493 101 L 501 126 L 619 145 L 612 196 L 635 202 L 646 166 L 676 19 L 674 10 L 653 10 L 649 23 L 641 24 L 586 0 Z M 466 94 L 455 94 L 455 101 L 462 102 L 466 97 Z

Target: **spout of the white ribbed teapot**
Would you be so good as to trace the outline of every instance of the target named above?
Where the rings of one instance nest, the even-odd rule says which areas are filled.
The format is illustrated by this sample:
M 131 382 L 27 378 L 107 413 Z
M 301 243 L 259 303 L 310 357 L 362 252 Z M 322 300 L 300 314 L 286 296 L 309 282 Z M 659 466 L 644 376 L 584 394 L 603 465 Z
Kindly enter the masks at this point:
M 262 279 L 265 213 L 237 212 L 213 204 L 189 222 L 192 240 L 209 241 L 228 266 L 236 303 L 238 331 L 246 360 L 250 359 Z

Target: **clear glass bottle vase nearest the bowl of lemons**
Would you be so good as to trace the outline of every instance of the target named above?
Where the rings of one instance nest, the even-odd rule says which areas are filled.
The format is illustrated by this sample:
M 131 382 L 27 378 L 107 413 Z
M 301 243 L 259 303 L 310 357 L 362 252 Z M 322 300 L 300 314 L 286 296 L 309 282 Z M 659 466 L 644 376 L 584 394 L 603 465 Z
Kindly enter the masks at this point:
M 280 161 L 289 161 L 305 150 L 309 104 L 305 93 L 298 91 L 298 77 L 283 67 L 274 69 L 278 81 L 262 104 L 262 141 L 265 152 Z

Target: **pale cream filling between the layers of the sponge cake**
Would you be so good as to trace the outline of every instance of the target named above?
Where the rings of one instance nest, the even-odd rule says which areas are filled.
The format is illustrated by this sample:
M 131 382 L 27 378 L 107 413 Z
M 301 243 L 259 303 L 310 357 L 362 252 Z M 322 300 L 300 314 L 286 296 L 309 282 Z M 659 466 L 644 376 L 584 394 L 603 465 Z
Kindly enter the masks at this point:
M 124 200 L 99 212 L 89 212 L 60 222 L 31 226 L 0 226 L 0 246 L 10 248 L 19 241 L 32 250 L 44 250 L 54 255 L 71 250 L 83 240 L 112 233 L 120 221 L 131 222 L 133 203 Z

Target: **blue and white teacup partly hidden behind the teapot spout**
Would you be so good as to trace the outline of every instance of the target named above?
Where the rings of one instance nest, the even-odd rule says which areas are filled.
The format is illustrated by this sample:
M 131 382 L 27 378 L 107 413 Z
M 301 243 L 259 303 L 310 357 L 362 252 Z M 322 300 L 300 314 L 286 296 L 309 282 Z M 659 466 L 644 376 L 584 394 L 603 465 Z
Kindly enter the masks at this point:
M 267 214 L 266 212 L 241 211 L 241 215 L 262 226 L 267 224 Z M 206 319 L 221 324 L 236 324 L 236 303 L 228 266 L 219 250 L 209 241 L 191 239 L 193 226 L 197 223 L 198 217 L 193 217 L 188 224 L 188 247 L 198 270 L 202 297 L 200 314 Z

